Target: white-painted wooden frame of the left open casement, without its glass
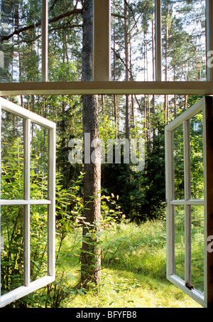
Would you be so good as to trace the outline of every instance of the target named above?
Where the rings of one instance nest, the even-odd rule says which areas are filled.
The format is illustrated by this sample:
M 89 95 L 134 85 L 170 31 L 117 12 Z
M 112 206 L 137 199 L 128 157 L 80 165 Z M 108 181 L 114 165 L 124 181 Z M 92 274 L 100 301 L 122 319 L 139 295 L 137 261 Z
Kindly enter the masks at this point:
M 9 291 L 8 294 L 1 296 L 0 307 L 20 299 L 37 289 L 55 281 L 55 123 L 48 119 L 24 109 L 23 107 L 4 100 L 0 97 L 1 109 L 12 114 L 18 115 L 24 119 L 24 188 L 23 200 L 3 200 L 0 199 L 1 205 L 23 205 L 23 286 Z M 30 166 L 31 166 L 31 122 L 39 124 L 49 130 L 49 148 L 48 148 L 48 199 L 32 200 L 30 198 Z M 0 121 L 1 126 L 1 121 Z M 1 133 L 0 133 L 1 134 Z M 31 282 L 30 267 L 30 208 L 31 205 L 48 205 L 48 274 Z M 0 217 L 1 220 L 1 217 Z M 1 223 L 1 222 L 0 222 Z M 1 225 L 0 225 L 1 229 Z M 1 231 L 0 231 L 1 232 Z M 1 243 L 1 240 L 0 240 Z M 1 249 L 1 244 L 0 244 Z M 0 257 L 0 274 L 1 274 L 1 257 Z M 1 289 L 0 289 L 1 291 Z

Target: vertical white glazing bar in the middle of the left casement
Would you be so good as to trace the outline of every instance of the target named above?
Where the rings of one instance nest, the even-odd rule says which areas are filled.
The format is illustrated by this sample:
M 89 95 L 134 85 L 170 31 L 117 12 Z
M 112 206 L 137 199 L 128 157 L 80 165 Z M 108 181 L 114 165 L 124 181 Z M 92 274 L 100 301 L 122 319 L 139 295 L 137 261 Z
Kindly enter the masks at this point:
M 30 200 L 30 184 L 31 184 L 31 120 L 24 120 L 24 199 Z M 24 258 L 24 286 L 31 283 L 31 267 L 30 267 L 30 205 L 23 206 L 23 258 Z

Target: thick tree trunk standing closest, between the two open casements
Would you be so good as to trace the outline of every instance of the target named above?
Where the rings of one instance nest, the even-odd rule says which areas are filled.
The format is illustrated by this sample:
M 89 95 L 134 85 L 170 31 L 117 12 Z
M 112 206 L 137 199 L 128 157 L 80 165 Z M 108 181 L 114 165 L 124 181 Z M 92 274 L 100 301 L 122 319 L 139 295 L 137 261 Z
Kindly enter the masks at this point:
M 93 1 L 84 0 L 82 9 L 83 18 L 83 48 L 82 48 L 82 79 L 92 80 L 92 11 Z M 97 95 L 84 95 L 83 101 L 83 133 L 89 134 L 89 142 L 84 140 L 84 149 L 90 149 L 91 142 L 99 139 L 98 97 Z M 89 146 L 88 146 L 89 145 Z M 97 150 L 96 150 L 97 151 Z M 91 155 L 94 151 L 91 149 Z M 88 163 L 87 163 L 88 162 Z M 99 247 L 100 220 L 100 188 L 101 163 L 100 155 L 84 163 L 84 217 L 82 242 L 82 286 L 88 288 L 88 282 L 98 284 L 100 281 L 101 251 Z M 95 223 L 94 223 L 95 222 Z

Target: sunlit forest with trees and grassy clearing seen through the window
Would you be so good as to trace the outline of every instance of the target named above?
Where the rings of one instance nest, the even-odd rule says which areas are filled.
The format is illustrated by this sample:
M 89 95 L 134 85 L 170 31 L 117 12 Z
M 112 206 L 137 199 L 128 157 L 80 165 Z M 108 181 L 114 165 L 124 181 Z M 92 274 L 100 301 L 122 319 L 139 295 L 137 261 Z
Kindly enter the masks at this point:
M 49 1 L 49 82 L 90 80 L 91 4 L 90 0 Z M 42 1 L 1 0 L 0 5 L 0 50 L 4 53 L 0 82 L 39 82 Z M 162 37 L 163 80 L 206 80 L 204 0 L 162 0 Z M 111 80 L 155 80 L 154 40 L 154 0 L 112 0 Z M 5 98 L 57 124 L 56 280 L 9 306 L 200 307 L 165 280 L 164 129 L 201 97 L 21 95 Z M 194 137 L 191 180 L 192 193 L 197 194 L 195 199 L 203 195 L 201 124 L 202 117 L 198 116 L 191 125 Z M 124 162 L 124 150 L 120 163 L 105 161 L 99 168 L 92 163 L 70 163 L 70 140 L 83 141 L 88 132 L 92 138 L 101 138 L 106 146 L 108 139 L 142 138 L 143 170 L 133 171 L 133 163 Z M 2 110 L 1 199 L 23 198 L 23 136 L 23 119 Z M 175 193 L 180 199 L 182 144 L 182 136 L 177 133 Z M 99 182 L 92 176 L 95 171 Z M 48 131 L 32 124 L 32 199 L 47 198 L 47 178 Z M 99 217 L 95 217 L 98 207 Z M 1 294 L 23 284 L 22 214 L 23 207 L 1 207 L 4 240 Z M 47 214 L 48 205 L 31 207 L 33 280 L 47 270 Z M 194 225 L 196 230 L 196 220 Z M 200 222 L 197 227 L 200 229 Z M 200 249 L 196 251 L 199 253 Z

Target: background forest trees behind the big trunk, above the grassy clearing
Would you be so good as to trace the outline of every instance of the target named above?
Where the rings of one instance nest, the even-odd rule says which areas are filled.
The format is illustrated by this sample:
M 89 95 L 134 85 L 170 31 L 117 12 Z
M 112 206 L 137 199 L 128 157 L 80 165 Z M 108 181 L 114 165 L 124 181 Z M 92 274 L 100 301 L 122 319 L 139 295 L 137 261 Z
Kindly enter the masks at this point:
M 1 69 L 1 81 L 40 80 L 42 1 L 36 4 L 33 0 L 3 2 L 1 50 L 5 53 L 5 68 Z M 111 6 L 111 75 L 114 80 L 123 80 L 129 65 L 129 80 L 154 80 L 154 1 L 129 0 L 127 3 L 129 57 L 124 50 L 127 37 L 124 2 L 114 0 Z M 50 81 L 81 79 L 81 9 L 81 1 L 50 1 Z M 162 13 L 165 80 L 204 79 L 204 2 L 165 0 Z M 38 24 L 33 26 L 35 22 Z M 188 28 L 190 23 L 196 28 Z M 21 31 L 23 27 L 26 31 Z M 15 35 L 12 35 L 13 28 L 17 29 Z M 143 45 L 138 41 L 141 37 Z M 64 176 L 63 187 L 69 188 L 72 180 L 84 172 L 82 165 L 68 161 L 68 142 L 72 138 L 82 139 L 80 97 L 31 95 L 11 100 L 18 100 L 23 107 L 57 123 L 57 168 Z M 140 173 L 129 173 L 123 164 L 102 166 L 102 188 L 109 195 L 119 195 L 119 204 L 128 218 L 144 220 L 161 215 L 159 209 L 165 201 L 164 127 L 190 106 L 192 100 L 194 98 L 175 95 L 163 102 L 162 97 L 156 95 L 129 95 L 130 136 L 146 139 L 146 167 Z M 125 97 L 119 95 L 99 97 L 99 128 L 105 141 L 126 136 L 125 105 Z

